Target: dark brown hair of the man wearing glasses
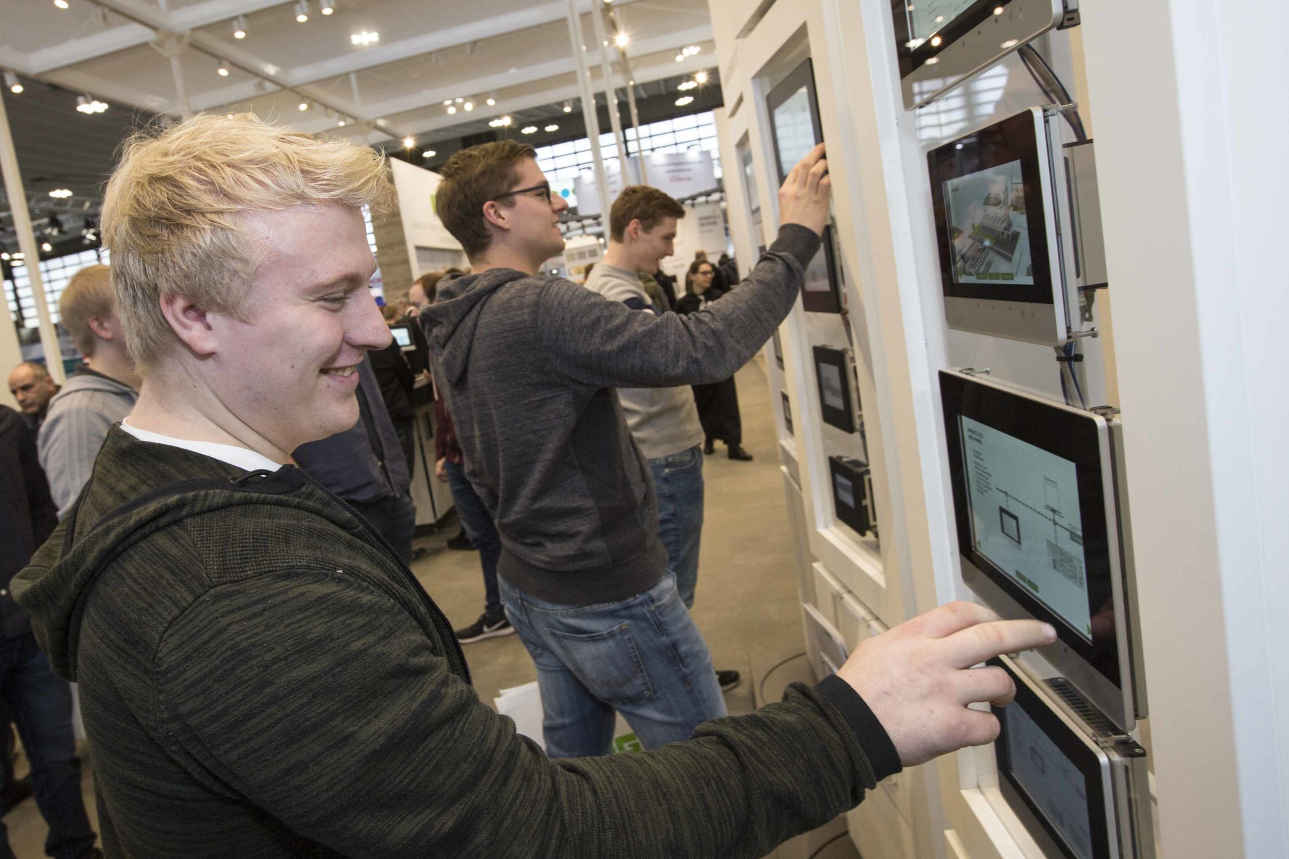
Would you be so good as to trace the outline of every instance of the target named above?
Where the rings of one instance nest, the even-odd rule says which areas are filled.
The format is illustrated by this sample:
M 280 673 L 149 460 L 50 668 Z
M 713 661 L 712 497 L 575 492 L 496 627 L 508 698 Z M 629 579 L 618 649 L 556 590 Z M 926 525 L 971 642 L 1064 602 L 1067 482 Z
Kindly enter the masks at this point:
M 536 149 L 527 143 L 495 140 L 461 149 L 440 169 L 443 180 L 434 192 L 434 212 L 467 256 L 482 252 L 492 240 L 483 203 L 510 188 L 519 161 L 535 157 Z

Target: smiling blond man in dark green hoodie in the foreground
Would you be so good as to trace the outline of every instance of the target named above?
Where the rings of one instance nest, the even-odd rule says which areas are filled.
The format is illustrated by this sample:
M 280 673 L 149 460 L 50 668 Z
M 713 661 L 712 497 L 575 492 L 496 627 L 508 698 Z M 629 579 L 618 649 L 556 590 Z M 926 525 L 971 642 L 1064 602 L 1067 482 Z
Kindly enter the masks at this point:
M 371 149 L 250 116 L 135 139 L 108 183 L 146 384 L 14 580 L 81 684 L 108 856 L 750 858 L 993 741 L 963 704 L 1012 684 L 963 667 L 1054 632 L 963 604 L 666 750 L 550 761 L 517 737 L 407 568 L 290 462 L 358 420 L 354 367 L 389 343 L 360 212 L 389 194 Z

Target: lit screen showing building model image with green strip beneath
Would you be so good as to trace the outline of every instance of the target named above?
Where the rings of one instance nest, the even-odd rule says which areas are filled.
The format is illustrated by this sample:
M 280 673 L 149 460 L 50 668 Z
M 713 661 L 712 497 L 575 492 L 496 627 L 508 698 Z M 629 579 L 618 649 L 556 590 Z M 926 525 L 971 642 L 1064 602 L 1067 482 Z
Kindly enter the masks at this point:
M 956 283 L 1032 285 L 1021 162 L 945 182 Z

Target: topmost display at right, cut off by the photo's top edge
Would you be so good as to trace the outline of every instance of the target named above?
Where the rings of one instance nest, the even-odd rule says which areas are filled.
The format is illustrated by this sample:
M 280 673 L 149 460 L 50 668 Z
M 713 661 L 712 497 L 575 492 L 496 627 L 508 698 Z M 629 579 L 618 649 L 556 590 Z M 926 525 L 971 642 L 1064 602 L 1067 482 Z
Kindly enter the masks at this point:
M 1071 23 L 1076 22 L 1076 14 Z M 914 108 L 1065 19 L 1062 0 L 891 0 L 904 106 Z

